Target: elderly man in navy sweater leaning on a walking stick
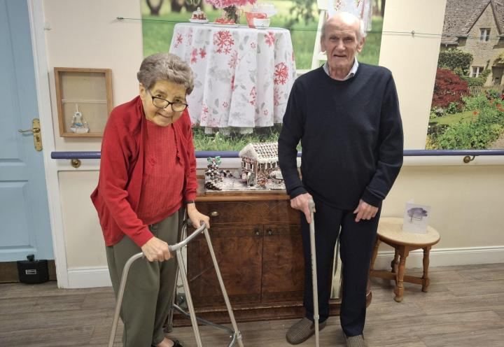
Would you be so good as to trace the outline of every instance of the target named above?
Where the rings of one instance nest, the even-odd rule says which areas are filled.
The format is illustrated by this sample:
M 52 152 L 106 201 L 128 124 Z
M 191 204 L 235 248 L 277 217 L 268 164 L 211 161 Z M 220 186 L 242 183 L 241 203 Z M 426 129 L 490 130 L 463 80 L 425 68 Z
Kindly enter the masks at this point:
M 314 334 L 309 248 L 309 208 L 316 207 L 319 328 L 329 316 L 330 281 L 339 234 L 343 269 L 340 320 L 347 346 L 363 337 L 366 288 L 381 201 L 402 166 L 402 122 L 392 74 L 358 63 L 363 23 L 337 13 L 322 28 L 328 61 L 297 78 L 279 136 L 279 164 L 290 206 L 301 211 L 306 315 L 287 332 L 290 344 Z M 302 143 L 302 179 L 296 146 Z M 341 231 L 339 231 L 341 228 Z

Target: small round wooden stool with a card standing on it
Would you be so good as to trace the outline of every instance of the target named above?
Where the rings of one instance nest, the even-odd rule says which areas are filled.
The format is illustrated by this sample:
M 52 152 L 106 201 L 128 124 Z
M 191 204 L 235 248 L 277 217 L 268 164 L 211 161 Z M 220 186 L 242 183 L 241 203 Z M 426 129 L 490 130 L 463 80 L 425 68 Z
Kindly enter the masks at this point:
M 380 218 L 378 224 L 378 236 L 374 245 L 370 276 L 388 278 L 395 281 L 396 302 L 402 302 L 404 294 L 403 282 L 416 283 L 422 285 L 422 292 L 427 292 L 429 285 L 428 265 L 430 248 L 440 240 L 439 233 L 433 227 L 427 227 L 427 234 L 416 234 L 413 232 L 402 232 L 402 218 Z M 380 242 L 386 243 L 395 249 L 392 260 L 392 271 L 374 270 L 374 261 L 378 254 Z M 406 257 L 409 251 L 423 249 L 423 276 L 405 276 Z

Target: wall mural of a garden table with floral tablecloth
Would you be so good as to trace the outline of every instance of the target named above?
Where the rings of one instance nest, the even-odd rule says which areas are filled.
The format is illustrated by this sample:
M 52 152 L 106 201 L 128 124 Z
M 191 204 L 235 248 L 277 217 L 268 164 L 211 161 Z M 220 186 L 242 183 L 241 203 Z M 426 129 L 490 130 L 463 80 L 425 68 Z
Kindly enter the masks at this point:
M 367 38 L 358 60 L 378 64 L 385 0 L 323 1 L 329 13 L 341 8 L 365 17 Z M 195 72 L 188 103 L 196 150 L 239 151 L 251 142 L 276 142 L 296 73 L 311 69 L 317 1 L 140 2 L 144 56 L 173 52 Z

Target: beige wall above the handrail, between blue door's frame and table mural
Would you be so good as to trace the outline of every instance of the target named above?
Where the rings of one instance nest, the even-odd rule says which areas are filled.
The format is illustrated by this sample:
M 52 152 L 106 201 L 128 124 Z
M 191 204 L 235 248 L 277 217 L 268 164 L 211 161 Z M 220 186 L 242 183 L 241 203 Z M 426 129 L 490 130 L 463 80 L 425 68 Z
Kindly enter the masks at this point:
M 112 69 L 113 104 L 138 94 L 137 71 L 143 59 L 139 0 L 45 0 L 44 13 L 56 150 L 99 150 L 100 138 L 59 136 L 55 67 Z

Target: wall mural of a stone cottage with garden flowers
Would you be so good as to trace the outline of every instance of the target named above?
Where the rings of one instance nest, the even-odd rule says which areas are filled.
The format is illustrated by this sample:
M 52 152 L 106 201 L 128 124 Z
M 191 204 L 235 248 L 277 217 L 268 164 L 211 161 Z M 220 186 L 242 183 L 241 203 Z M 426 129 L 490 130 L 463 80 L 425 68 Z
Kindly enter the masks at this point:
M 504 148 L 504 0 L 447 0 L 426 149 Z

